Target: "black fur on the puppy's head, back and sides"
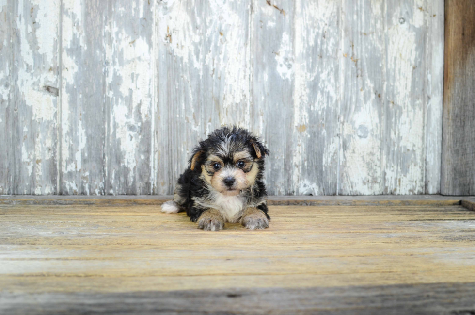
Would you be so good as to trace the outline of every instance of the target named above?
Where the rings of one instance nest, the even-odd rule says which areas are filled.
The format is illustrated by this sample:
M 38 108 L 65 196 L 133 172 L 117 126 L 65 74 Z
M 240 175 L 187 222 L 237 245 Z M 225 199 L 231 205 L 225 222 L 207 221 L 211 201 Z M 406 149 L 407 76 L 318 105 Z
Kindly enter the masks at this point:
M 181 207 L 181 210 L 186 211 L 190 220 L 196 222 L 206 208 L 200 206 L 193 198 L 205 198 L 210 195 L 208 185 L 201 176 L 202 166 L 206 162 L 210 154 L 219 155 L 224 164 L 233 163 L 230 156 L 222 156 L 217 149 L 226 138 L 229 139 L 231 152 L 238 152 L 247 150 L 254 159 L 254 163 L 258 166 L 258 173 L 255 177 L 255 183 L 253 187 L 249 187 L 245 191 L 240 193 L 240 196 L 246 199 L 247 204 L 252 206 L 253 204 L 259 210 L 262 210 L 268 219 L 268 207 L 266 202 L 262 202 L 267 197 L 266 186 L 262 181 L 264 175 L 264 162 L 266 155 L 269 154 L 269 150 L 262 144 L 260 139 L 253 136 L 245 129 L 233 127 L 222 127 L 209 134 L 206 140 L 200 141 L 199 145 L 193 149 L 190 157 L 188 168 L 178 179 L 177 189 L 175 190 L 174 201 Z M 261 158 L 257 157 L 254 146 L 256 146 L 261 152 Z M 193 156 L 199 152 L 199 156 L 196 159 L 195 167 L 191 170 L 191 163 Z M 178 195 L 178 196 L 176 196 Z M 178 198 L 177 198 L 178 197 Z

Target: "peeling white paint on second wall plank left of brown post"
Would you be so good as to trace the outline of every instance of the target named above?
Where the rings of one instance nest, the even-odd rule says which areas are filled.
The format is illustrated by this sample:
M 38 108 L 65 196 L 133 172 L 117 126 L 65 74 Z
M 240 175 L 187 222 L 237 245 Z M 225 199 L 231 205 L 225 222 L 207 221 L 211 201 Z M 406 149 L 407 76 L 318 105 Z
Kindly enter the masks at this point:
M 411 23 L 397 22 L 387 31 L 388 71 L 391 75 L 392 92 L 387 94 L 391 104 L 392 119 L 397 124 L 391 128 L 390 139 L 398 148 L 395 155 L 383 155 L 387 193 L 420 194 L 424 192 L 424 107 L 421 99 L 411 95 L 413 72 L 423 59 L 422 51 L 417 50 L 419 42 L 415 27 L 421 10 L 414 7 Z M 396 16 L 396 14 L 395 14 Z M 416 23 L 417 25 L 412 25 Z M 418 79 L 415 79 L 418 80 Z M 396 158 L 396 161 L 395 161 Z

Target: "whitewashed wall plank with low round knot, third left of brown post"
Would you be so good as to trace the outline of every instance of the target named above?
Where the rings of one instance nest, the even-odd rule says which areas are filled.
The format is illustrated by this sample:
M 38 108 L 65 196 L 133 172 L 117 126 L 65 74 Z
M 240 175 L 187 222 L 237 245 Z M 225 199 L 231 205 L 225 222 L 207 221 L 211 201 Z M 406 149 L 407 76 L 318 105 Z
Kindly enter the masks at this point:
M 340 195 L 381 194 L 385 2 L 343 1 Z

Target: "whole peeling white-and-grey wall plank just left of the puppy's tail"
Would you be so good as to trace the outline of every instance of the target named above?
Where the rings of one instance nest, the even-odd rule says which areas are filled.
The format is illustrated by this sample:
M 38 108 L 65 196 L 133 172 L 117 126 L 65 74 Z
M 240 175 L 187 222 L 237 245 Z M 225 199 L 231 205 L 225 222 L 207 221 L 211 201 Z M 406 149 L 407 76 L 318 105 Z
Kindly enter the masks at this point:
M 154 1 L 113 1 L 105 17 L 106 193 L 148 195 L 153 155 Z

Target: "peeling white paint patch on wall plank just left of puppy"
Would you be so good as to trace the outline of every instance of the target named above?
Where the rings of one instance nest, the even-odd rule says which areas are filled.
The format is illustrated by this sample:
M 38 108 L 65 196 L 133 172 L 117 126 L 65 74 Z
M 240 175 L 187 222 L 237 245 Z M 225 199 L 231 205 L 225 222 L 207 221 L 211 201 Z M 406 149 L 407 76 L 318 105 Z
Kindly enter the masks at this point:
M 143 9 L 147 1 L 134 3 L 134 17 L 137 13 L 140 17 L 150 13 Z M 119 12 L 122 8 L 118 8 Z M 105 30 L 112 39 L 105 47 L 109 65 L 106 68 L 106 83 L 111 117 L 108 126 L 111 157 L 106 165 L 112 167 L 111 173 L 107 169 L 106 177 L 111 183 L 112 193 L 124 189 L 122 186 L 126 184 L 132 185 L 139 168 L 153 167 L 153 163 L 143 161 L 140 156 L 144 152 L 152 153 L 143 148 L 143 143 L 150 143 L 148 137 L 153 139 L 152 131 L 144 129 L 144 126 L 151 125 L 154 110 L 154 47 L 147 37 L 149 33 L 141 34 L 134 30 L 133 19 L 128 17 L 114 17 Z M 118 160 L 119 165 L 114 160 Z M 143 184 L 135 183 L 136 186 Z

